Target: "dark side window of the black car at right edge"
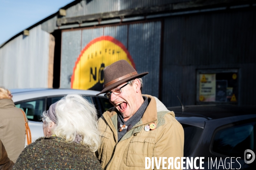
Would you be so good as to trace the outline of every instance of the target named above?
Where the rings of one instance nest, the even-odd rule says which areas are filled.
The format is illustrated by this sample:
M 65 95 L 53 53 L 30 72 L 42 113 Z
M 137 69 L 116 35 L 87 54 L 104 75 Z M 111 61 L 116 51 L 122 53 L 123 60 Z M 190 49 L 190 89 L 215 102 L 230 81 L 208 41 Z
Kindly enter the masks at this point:
M 223 159 L 237 158 L 232 163 L 233 168 L 254 169 L 256 162 L 246 164 L 244 160 L 248 159 L 247 161 L 249 161 L 252 158 L 246 158 L 244 152 L 245 150 L 251 150 L 253 153 L 256 153 L 255 144 L 256 118 L 251 118 L 218 127 L 213 133 L 210 151 L 212 154 Z

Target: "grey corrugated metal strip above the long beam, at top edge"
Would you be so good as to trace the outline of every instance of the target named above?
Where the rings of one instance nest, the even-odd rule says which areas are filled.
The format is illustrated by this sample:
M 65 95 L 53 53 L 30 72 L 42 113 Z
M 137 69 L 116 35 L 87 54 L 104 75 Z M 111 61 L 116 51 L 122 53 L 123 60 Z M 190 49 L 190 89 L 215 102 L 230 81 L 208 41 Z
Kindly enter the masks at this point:
M 120 11 L 124 9 L 141 8 L 146 6 L 160 6 L 185 1 L 189 0 L 81 0 L 80 3 L 77 3 L 76 5 L 67 9 L 66 17 Z

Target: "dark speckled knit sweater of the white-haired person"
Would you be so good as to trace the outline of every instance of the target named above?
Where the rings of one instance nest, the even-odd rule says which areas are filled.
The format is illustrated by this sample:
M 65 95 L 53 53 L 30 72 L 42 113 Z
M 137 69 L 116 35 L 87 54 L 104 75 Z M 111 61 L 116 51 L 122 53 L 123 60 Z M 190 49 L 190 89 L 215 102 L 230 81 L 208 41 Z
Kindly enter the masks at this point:
M 102 170 L 90 148 L 51 136 L 29 144 L 18 157 L 13 170 Z

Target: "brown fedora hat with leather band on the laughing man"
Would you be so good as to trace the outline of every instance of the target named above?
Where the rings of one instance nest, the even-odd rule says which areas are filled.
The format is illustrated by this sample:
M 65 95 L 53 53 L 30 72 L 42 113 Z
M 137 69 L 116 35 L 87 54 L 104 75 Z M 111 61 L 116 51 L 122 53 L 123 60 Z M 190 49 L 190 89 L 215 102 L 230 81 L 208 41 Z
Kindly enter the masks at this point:
M 103 90 L 99 93 L 106 93 L 112 88 L 116 88 L 124 82 L 128 82 L 136 77 L 143 77 L 148 72 L 138 74 L 137 71 L 124 59 L 114 62 L 104 68 Z M 96 95 L 99 95 L 96 94 Z

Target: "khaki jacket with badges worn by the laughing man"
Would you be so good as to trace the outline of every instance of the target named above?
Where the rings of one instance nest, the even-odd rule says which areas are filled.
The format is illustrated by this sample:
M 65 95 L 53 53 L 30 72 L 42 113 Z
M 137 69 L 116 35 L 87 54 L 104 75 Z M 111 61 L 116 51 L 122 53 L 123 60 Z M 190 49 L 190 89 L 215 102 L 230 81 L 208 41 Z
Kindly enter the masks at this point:
M 169 157 L 183 156 L 184 131 L 174 112 L 168 111 L 157 98 L 143 96 L 148 97 L 149 104 L 142 119 L 118 143 L 116 108 L 109 109 L 99 119 L 101 146 L 96 156 L 104 170 L 145 170 L 145 157 L 157 160 L 167 157 L 165 167 L 168 167 Z M 151 122 L 157 128 L 146 132 L 144 127 Z M 157 169 L 155 163 L 154 169 Z

